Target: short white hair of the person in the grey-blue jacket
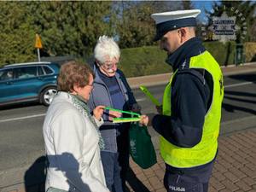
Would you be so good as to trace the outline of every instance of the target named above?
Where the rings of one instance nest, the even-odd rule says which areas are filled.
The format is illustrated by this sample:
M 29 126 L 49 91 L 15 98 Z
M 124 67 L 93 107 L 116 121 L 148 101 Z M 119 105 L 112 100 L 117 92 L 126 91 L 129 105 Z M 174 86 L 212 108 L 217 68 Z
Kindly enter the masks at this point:
M 119 58 L 120 49 L 113 38 L 103 35 L 97 41 L 94 49 L 94 58 L 102 64 L 106 61 L 106 56 L 109 56 L 110 60 Z

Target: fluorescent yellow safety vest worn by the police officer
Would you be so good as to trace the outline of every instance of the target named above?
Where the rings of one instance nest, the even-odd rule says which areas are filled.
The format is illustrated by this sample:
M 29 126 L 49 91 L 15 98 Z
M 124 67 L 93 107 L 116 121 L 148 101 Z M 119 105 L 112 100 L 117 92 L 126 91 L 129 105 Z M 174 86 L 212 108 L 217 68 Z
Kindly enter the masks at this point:
M 160 137 L 160 154 L 170 166 L 179 168 L 201 166 L 212 161 L 218 148 L 218 132 L 221 117 L 221 103 L 224 96 L 223 75 L 212 55 L 205 51 L 201 55 L 190 58 L 189 68 L 207 70 L 212 75 L 213 93 L 211 106 L 205 116 L 201 142 L 193 148 L 180 148 L 169 143 L 164 137 Z M 173 77 L 176 72 L 173 73 Z M 172 79 L 167 84 L 163 96 L 163 114 L 171 116 L 171 88 Z M 196 113 L 196 108 L 195 108 Z

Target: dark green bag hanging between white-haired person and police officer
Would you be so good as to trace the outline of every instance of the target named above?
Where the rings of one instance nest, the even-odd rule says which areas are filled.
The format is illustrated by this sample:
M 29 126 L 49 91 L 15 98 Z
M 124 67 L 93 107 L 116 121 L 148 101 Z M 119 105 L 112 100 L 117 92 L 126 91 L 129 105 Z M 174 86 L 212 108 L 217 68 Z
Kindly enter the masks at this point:
M 154 166 L 156 155 L 151 137 L 148 134 L 147 126 L 140 126 L 138 123 L 131 123 L 130 134 L 130 154 L 132 160 L 143 169 Z

